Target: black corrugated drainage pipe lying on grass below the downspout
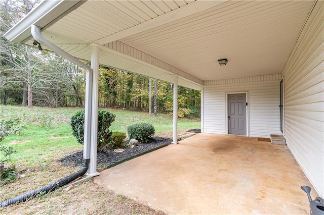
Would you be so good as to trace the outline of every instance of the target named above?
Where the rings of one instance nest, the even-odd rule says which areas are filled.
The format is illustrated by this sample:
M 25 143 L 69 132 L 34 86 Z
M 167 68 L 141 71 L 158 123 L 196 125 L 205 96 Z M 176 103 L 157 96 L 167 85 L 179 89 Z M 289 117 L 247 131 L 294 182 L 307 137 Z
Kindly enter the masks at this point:
M 88 167 L 89 167 L 89 160 L 90 159 L 84 159 L 84 162 L 83 162 L 84 164 L 83 164 L 81 170 L 78 170 L 78 171 L 72 173 L 71 175 L 65 176 L 64 178 L 61 178 L 60 180 L 58 180 L 58 181 L 56 181 L 56 182 L 54 182 L 52 184 L 49 184 L 49 185 L 46 185 L 46 186 L 43 186 L 43 187 L 39 187 L 37 189 L 28 191 L 28 192 L 26 192 L 24 194 L 21 194 L 19 196 L 16 196 L 16 197 L 6 199 L 5 201 L 0 203 L 0 207 L 4 207 L 4 206 L 11 205 L 11 204 L 16 204 L 16 203 L 19 203 L 19 202 L 27 201 L 29 199 L 32 199 L 32 198 L 36 197 L 37 194 L 39 194 L 39 193 L 51 192 L 51 191 L 53 191 L 53 190 L 55 190 L 55 189 L 57 189 L 59 187 L 62 187 L 65 184 L 70 183 L 71 181 L 74 181 L 75 179 L 77 179 L 77 178 L 79 178 L 79 177 L 86 174 L 86 172 L 88 171 Z

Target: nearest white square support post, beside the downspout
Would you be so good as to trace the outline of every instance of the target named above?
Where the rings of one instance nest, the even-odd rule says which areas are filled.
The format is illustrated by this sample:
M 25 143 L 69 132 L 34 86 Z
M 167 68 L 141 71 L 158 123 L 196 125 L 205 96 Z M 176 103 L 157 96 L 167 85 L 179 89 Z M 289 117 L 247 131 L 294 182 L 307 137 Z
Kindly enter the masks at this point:
M 98 133 L 98 83 L 99 83 L 99 47 L 92 46 L 91 52 L 92 75 L 92 114 L 91 114 L 91 141 L 90 164 L 88 176 L 97 176 L 97 133 Z

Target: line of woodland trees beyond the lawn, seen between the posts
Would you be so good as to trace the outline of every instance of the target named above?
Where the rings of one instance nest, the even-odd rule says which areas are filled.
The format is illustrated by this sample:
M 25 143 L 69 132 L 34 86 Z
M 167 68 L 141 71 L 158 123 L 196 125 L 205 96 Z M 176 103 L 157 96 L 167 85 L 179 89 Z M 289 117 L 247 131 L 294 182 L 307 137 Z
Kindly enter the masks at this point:
M 0 0 L 0 99 L 1 104 L 84 106 L 85 71 L 52 52 L 9 42 L 3 35 L 39 3 L 29 0 Z M 152 89 L 156 81 L 156 92 Z M 173 84 L 150 80 L 127 71 L 100 67 L 101 108 L 148 111 L 150 93 L 156 95 L 157 112 L 173 111 Z M 152 104 L 153 105 L 153 104 Z M 199 115 L 200 92 L 178 87 L 179 117 Z

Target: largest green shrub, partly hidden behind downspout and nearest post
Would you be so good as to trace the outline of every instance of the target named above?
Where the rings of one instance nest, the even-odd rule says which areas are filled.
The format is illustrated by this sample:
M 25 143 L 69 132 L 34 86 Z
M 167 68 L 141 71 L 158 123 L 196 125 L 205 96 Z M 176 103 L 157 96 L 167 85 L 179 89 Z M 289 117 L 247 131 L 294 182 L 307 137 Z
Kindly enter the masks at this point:
M 110 142 L 112 132 L 109 130 L 115 115 L 108 111 L 98 111 L 98 140 L 97 150 L 102 151 L 103 146 Z M 71 118 L 72 134 L 80 144 L 84 144 L 85 111 L 79 111 Z

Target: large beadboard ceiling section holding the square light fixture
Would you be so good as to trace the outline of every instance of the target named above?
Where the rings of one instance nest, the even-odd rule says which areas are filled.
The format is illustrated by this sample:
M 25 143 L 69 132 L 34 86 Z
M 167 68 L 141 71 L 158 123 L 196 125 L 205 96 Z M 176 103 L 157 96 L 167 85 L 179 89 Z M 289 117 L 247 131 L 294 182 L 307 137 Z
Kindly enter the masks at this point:
M 313 4 L 230 1 L 120 41 L 204 81 L 280 73 Z

